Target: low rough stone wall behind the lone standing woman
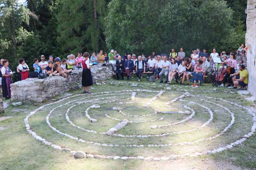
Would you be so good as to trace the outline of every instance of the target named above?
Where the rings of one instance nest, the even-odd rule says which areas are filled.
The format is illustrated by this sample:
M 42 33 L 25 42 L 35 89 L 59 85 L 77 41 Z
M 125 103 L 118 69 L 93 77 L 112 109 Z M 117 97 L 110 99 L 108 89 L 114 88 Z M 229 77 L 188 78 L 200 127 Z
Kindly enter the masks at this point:
M 108 67 L 95 65 L 91 68 L 93 82 L 101 82 L 112 76 Z M 67 79 L 61 76 L 46 79 L 29 78 L 11 84 L 12 100 L 44 102 L 68 90 L 81 88 L 82 69 L 72 71 Z

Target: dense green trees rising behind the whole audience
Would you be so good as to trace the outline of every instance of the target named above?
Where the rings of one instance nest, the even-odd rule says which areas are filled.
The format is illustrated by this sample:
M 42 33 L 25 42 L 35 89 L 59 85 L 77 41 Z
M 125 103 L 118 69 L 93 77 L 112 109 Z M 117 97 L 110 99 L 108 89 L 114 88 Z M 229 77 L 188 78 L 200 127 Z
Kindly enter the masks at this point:
M 150 54 L 185 48 L 236 50 L 246 0 L 0 0 L 0 55 L 12 68 L 41 54 L 117 49 Z

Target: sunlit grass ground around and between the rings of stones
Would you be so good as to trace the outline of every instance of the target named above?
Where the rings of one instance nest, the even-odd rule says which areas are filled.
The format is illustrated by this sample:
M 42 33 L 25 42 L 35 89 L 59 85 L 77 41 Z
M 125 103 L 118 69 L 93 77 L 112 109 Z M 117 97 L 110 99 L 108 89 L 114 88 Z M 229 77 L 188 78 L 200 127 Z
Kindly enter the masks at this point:
M 93 155 L 108 155 L 108 156 L 152 156 L 162 157 L 171 155 L 183 155 L 186 153 L 204 153 L 208 150 L 214 150 L 218 147 L 224 147 L 227 144 L 235 142 L 244 134 L 250 132 L 253 124 L 252 116 L 243 108 L 231 105 L 230 103 L 222 102 L 216 99 L 207 99 L 206 96 L 218 97 L 232 102 L 236 102 L 246 107 L 251 107 L 253 102 L 244 100 L 244 96 L 237 93 L 236 90 L 228 88 L 212 88 L 211 84 L 203 84 L 202 87 L 192 88 L 190 86 L 159 84 L 159 82 L 147 82 L 145 79 L 142 82 L 136 82 L 136 79 L 126 81 L 109 80 L 105 85 L 94 85 L 91 88 L 92 92 L 106 91 L 121 91 L 146 89 L 151 91 L 165 91 L 159 98 L 154 100 L 148 107 L 143 107 L 143 104 L 150 101 L 157 92 L 142 92 L 136 91 L 134 100 L 131 100 L 131 92 L 110 93 L 105 96 L 91 97 L 101 94 L 91 94 L 76 96 L 69 99 L 64 99 L 60 103 L 49 105 L 39 111 L 29 119 L 30 127 L 35 133 L 43 137 L 49 142 L 58 144 L 61 147 L 68 147 L 72 150 L 82 150 L 87 154 Z M 182 95 L 184 92 L 189 92 L 195 97 L 186 97 L 184 101 L 177 101 L 170 104 L 170 108 L 166 107 L 166 102 L 171 101 L 175 97 Z M 70 94 L 81 94 L 81 90 L 69 91 Z M 112 95 L 113 94 L 113 95 Z M 63 95 L 61 95 L 63 96 Z M 56 96 L 54 101 L 61 99 L 61 96 Z M 102 99 L 107 98 L 107 99 Z M 96 100 L 99 99 L 99 100 Z M 112 100 L 120 101 L 112 101 Z M 206 99 L 206 101 L 201 100 Z M 0 127 L 6 129 L 0 130 L 0 170 L 189 170 L 189 169 L 209 169 L 209 170 L 242 170 L 256 169 L 256 136 L 253 135 L 243 144 L 224 150 L 221 153 L 210 155 L 184 157 L 169 161 L 141 161 L 141 160 L 108 160 L 108 159 L 75 159 L 74 156 L 65 151 L 55 150 L 41 142 L 36 141 L 29 133 L 26 132 L 23 119 L 31 111 L 39 108 L 41 105 L 54 102 L 49 100 L 41 104 L 31 102 L 23 103 L 21 106 L 13 107 L 10 105 L 5 110 L 4 116 L 13 116 L 0 122 Z M 76 101 L 73 101 L 76 100 Z M 94 100 L 89 102 L 90 100 Z M 73 101 L 73 102 L 70 102 Z M 190 132 L 177 133 L 200 127 L 210 119 L 209 111 L 206 108 L 189 102 L 200 103 L 209 108 L 213 113 L 213 119 L 209 125 Z M 209 103 L 209 102 L 213 103 Z M 8 101 L 7 101 L 8 102 Z M 54 132 L 46 122 L 46 116 L 49 111 L 58 105 L 65 104 L 58 109 L 55 109 L 49 121 L 53 127 L 63 133 L 78 137 L 89 142 L 101 144 L 118 144 L 118 145 L 143 145 L 143 147 L 104 147 L 95 144 L 87 144 L 70 139 Z M 84 102 L 84 103 L 78 103 Z M 119 102 L 134 102 L 119 104 Z M 90 122 L 85 116 L 85 109 L 90 105 L 99 104 L 100 108 L 90 108 L 88 114 L 97 122 Z M 217 105 L 216 105 L 217 104 Z M 221 133 L 227 125 L 230 124 L 231 116 L 224 106 L 234 113 L 235 122 L 227 132 L 212 140 L 205 140 L 195 144 L 174 145 L 168 147 L 148 147 L 148 144 L 177 144 L 180 142 L 193 142 L 204 138 L 209 138 Z M 68 113 L 70 120 L 77 126 L 96 132 L 106 132 L 111 127 L 114 127 L 123 119 L 128 119 L 129 122 L 125 127 L 118 130 L 116 134 L 122 135 L 157 135 L 167 133 L 167 136 L 151 136 L 147 138 L 137 137 L 119 137 L 107 136 L 105 134 L 90 133 L 70 125 L 67 122 L 65 114 L 68 108 L 72 107 Z M 163 114 L 163 111 L 189 111 L 183 105 L 189 106 L 195 111 L 195 116 L 192 119 L 182 122 L 178 125 L 171 125 L 162 128 L 152 129 L 153 125 L 168 125 L 169 123 L 179 122 L 186 119 L 188 114 Z M 130 115 L 125 116 L 118 111 L 113 110 L 113 107 L 121 107 L 123 113 Z M 154 113 L 157 109 L 160 113 L 151 116 L 143 116 Z M 111 116 L 109 118 L 108 116 Z M 137 115 L 137 116 L 136 116 Z M 162 119 L 160 119 L 162 118 Z M 117 120 L 116 120 L 117 119 Z M 154 120 L 150 122 L 151 120 Z M 135 121 L 135 122 L 134 122 Z M 146 121 L 136 123 L 136 121 Z M 174 134 L 173 134 L 174 133 Z

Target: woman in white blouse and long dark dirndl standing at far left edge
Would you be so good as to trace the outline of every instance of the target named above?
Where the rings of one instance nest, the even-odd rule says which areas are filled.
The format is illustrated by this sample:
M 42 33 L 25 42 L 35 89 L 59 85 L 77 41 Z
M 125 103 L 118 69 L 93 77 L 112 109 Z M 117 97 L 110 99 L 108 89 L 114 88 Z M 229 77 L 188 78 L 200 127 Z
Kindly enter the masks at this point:
M 10 85 L 12 84 L 12 70 L 9 68 L 9 62 L 7 59 L 3 60 L 3 67 L 1 68 L 3 75 L 2 78 L 2 88 L 3 88 L 3 97 L 6 99 L 11 98 L 11 89 Z

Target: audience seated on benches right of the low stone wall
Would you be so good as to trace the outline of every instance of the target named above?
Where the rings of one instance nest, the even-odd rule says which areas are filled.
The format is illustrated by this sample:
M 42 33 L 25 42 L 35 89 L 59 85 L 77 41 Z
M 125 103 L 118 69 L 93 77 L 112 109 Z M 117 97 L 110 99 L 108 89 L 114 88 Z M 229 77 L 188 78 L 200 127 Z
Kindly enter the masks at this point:
M 197 48 L 192 51 L 190 57 L 186 57 L 183 48 L 180 48 L 178 53 L 172 49 L 169 56 L 166 54 L 156 55 L 155 52 L 152 52 L 148 57 L 144 54 L 137 57 L 136 54 L 127 52 L 121 57 L 117 51 L 111 50 L 108 57 L 110 59 L 107 62 L 113 65 L 117 79 L 124 79 L 124 74 L 126 74 L 129 80 L 134 74 L 137 76 L 137 81 L 140 82 L 143 74 L 146 74 L 147 78 L 154 76 L 154 79 L 160 79 L 160 83 L 170 84 L 175 80 L 180 85 L 184 85 L 185 80 L 186 85 L 189 85 L 189 82 L 194 85 L 202 85 L 208 76 L 213 81 L 218 69 L 223 65 L 229 71 L 224 74 L 224 80 L 220 86 L 230 88 L 237 86 L 230 75 L 239 72 L 239 67 L 243 64 L 242 59 L 237 64 L 235 53 L 231 52 L 230 56 L 227 56 L 226 52 L 222 51 L 219 55 L 215 48 L 212 49 L 211 54 L 208 54 L 206 49 L 201 51 Z M 220 58 L 222 64 L 213 62 L 214 58 Z M 247 85 L 247 82 L 245 84 Z

